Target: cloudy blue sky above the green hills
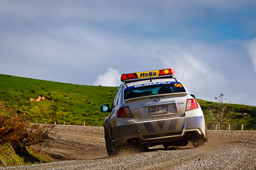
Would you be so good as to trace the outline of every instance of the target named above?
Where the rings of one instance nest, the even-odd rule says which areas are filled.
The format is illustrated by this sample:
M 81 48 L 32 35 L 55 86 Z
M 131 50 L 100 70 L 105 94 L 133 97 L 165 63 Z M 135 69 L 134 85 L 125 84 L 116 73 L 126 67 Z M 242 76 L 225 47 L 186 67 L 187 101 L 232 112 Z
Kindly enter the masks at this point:
M 1 0 L 0 74 L 117 87 L 122 73 L 173 68 L 196 98 L 256 106 L 255 9 L 253 0 Z

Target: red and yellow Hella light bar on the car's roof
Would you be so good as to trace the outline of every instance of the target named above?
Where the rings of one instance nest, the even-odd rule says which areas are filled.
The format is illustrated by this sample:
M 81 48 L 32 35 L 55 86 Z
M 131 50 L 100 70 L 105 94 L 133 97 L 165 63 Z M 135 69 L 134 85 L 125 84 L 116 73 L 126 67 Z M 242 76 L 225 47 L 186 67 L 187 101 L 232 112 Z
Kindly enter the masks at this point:
M 138 73 L 129 73 L 129 74 L 122 74 L 121 81 L 131 81 L 136 80 L 140 78 L 155 78 L 158 76 L 170 76 L 174 75 L 175 71 L 174 69 L 160 69 L 160 70 L 154 70 L 154 71 L 143 71 Z

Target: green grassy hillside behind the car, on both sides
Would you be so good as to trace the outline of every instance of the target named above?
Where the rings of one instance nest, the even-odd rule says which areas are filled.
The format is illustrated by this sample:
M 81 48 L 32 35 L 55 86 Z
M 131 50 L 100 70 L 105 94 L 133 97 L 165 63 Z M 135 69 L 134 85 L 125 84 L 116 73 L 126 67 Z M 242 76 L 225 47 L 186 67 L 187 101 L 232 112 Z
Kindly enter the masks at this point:
M 96 87 L 74 85 L 53 81 L 35 80 L 0 74 L 0 101 L 12 106 L 17 112 L 31 117 L 31 122 L 72 124 L 72 125 L 103 125 L 108 113 L 100 112 L 100 105 L 111 104 L 117 87 Z M 30 101 L 45 96 L 40 102 Z M 209 106 L 218 107 L 212 103 L 197 99 L 205 114 L 207 126 L 211 128 Z M 256 106 L 229 104 L 232 114 L 228 115 L 227 129 L 256 129 Z

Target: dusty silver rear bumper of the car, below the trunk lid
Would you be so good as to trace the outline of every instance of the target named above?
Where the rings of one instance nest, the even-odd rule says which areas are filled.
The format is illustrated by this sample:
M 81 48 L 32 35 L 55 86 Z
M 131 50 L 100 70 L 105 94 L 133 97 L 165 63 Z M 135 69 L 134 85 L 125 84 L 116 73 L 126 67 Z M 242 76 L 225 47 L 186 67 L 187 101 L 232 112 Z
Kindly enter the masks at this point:
M 147 122 L 129 120 L 112 127 L 116 145 L 125 144 L 129 139 L 134 138 L 141 143 L 164 143 L 183 138 L 187 132 L 191 131 L 195 131 L 198 136 L 205 137 L 204 115 Z

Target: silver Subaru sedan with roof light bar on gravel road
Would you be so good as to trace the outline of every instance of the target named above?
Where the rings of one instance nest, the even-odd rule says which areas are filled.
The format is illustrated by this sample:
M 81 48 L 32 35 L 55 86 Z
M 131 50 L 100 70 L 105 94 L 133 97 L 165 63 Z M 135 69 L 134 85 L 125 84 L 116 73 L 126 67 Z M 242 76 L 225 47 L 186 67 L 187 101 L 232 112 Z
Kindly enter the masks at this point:
M 193 94 L 174 78 L 173 69 L 122 74 L 110 112 L 104 120 L 106 150 L 115 155 L 123 146 L 195 147 L 208 141 L 204 113 Z

